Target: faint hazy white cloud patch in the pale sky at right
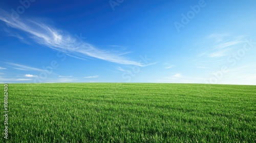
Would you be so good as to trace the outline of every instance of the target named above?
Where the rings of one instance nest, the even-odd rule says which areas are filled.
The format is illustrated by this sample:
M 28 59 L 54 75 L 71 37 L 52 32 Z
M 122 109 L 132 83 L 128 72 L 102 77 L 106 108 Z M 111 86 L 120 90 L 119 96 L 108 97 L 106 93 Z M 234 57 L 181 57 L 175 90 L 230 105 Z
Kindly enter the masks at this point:
M 218 68 L 227 63 L 227 58 L 243 48 L 248 36 L 229 34 L 212 34 L 206 36 L 197 49 L 197 56 L 192 64 L 196 68 Z

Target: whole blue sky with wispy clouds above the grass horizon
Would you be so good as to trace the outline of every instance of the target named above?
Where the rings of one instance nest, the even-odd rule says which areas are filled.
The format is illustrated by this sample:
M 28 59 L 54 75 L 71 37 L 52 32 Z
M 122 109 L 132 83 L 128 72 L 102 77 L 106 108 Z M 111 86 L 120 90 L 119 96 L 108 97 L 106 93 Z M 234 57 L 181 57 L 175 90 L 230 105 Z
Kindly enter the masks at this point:
M 256 85 L 256 1 L 1 1 L 0 82 Z

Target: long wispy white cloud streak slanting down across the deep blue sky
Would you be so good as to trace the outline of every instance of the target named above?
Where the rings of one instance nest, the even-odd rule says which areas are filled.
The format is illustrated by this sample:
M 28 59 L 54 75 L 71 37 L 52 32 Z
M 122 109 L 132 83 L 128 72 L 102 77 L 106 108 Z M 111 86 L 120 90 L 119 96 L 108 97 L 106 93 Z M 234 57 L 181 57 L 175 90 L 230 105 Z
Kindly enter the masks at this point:
M 124 53 L 100 50 L 90 43 L 78 41 L 75 36 L 48 26 L 37 19 L 14 19 L 10 13 L 2 9 L 0 13 L 0 20 L 8 26 L 26 32 L 32 40 L 53 50 L 76 58 L 93 57 L 119 64 L 143 66 L 139 62 L 127 59 L 123 56 Z

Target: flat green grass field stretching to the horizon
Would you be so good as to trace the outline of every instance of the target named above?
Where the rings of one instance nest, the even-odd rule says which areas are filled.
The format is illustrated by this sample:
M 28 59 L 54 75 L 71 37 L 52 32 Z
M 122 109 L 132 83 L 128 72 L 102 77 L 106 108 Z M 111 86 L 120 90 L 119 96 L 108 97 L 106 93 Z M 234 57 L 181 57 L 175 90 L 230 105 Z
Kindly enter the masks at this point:
M 9 84 L 8 95 L 0 142 L 256 142 L 256 86 Z

